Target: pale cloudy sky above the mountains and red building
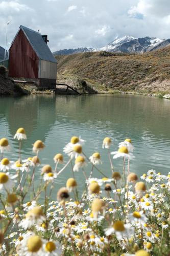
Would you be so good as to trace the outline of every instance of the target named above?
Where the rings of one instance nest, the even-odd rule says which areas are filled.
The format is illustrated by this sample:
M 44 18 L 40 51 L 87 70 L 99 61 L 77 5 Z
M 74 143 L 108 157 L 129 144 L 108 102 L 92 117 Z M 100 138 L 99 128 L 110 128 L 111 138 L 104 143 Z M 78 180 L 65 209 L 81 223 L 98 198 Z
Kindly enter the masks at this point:
M 20 25 L 47 34 L 52 51 L 102 47 L 117 37 L 170 38 L 169 0 L 0 0 L 0 46 Z

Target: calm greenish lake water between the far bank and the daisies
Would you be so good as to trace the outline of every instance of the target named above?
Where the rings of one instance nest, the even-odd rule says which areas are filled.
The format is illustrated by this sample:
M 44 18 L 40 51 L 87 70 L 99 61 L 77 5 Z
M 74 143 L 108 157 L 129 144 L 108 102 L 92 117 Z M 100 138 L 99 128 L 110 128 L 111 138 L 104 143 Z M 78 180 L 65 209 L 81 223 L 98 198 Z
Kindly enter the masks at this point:
M 102 149 L 104 137 L 113 139 L 112 151 L 119 142 L 130 137 L 135 146 L 131 172 L 141 175 L 148 169 L 170 172 L 170 100 L 133 95 L 54 96 L 31 95 L 19 98 L 0 98 L 0 137 L 7 137 L 12 146 L 6 156 L 16 160 L 17 141 L 13 136 L 23 126 L 28 140 L 23 143 L 23 158 L 33 156 L 32 144 L 42 140 L 46 147 L 40 153 L 41 164 L 54 166 L 53 157 L 71 136 L 87 142 L 86 155 L 99 151 L 103 172 L 109 176 L 107 151 Z M 67 161 L 67 157 L 65 157 Z M 115 169 L 122 170 L 122 159 L 114 161 Z M 90 168 L 87 167 L 87 173 Z M 79 186 L 84 177 L 76 174 Z M 94 176 L 100 177 L 94 170 Z M 71 177 L 70 168 L 58 178 L 55 190 Z M 38 182 L 39 173 L 36 174 Z

